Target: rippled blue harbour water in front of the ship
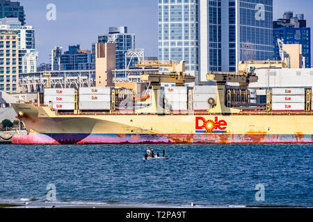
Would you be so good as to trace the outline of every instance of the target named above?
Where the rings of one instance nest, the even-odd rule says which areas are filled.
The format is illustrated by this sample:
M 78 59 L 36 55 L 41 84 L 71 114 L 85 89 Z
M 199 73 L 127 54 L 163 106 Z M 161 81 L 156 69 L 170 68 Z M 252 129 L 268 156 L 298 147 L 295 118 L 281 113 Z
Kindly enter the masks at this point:
M 147 147 L 170 159 L 143 160 Z M 311 144 L 0 145 L 0 203 L 313 207 L 312 153 Z

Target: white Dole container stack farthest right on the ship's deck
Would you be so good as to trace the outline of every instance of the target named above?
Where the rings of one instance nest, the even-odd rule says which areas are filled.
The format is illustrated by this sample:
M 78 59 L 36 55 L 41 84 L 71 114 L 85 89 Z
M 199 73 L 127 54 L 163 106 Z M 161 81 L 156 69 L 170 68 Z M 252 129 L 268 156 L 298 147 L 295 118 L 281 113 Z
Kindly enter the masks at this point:
M 305 88 L 273 88 L 272 110 L 305 110 Z

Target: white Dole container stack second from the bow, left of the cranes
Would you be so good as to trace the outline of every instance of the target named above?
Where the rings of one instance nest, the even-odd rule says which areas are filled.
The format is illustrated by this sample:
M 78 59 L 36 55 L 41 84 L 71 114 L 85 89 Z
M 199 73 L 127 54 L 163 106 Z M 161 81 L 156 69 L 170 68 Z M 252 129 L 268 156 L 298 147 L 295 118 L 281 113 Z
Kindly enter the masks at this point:
M 111 88 L 79 88 L 79 110 L 111 110 Z

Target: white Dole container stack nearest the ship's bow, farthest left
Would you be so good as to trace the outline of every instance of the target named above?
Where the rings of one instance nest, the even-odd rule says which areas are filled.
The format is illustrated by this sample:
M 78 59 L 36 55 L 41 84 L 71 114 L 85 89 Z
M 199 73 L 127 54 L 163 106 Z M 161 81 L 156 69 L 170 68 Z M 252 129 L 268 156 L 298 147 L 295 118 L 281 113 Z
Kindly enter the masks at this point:
M 52 103 L 54 110 L 74 110 L 74 89 L 45 89 L 44 103 Z

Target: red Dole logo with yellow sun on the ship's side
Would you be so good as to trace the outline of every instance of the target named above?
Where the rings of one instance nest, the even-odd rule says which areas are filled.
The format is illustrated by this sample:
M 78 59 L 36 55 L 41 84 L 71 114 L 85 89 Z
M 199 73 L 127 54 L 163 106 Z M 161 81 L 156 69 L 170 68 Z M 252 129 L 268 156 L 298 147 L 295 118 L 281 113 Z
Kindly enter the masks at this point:
M 202 125 L 200 125 L 202 124 Z M 218 117 L 215 117 L 214 121 L 209 119 L 206 120 L 203 117 L 195 117 L 195 129 L 196 130 L 207 130 L 208 133 L 214 130 L 226 130 L 227 122 L 225 120 L 218 121 Z

